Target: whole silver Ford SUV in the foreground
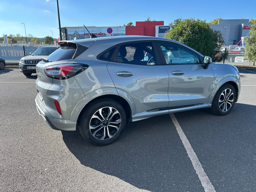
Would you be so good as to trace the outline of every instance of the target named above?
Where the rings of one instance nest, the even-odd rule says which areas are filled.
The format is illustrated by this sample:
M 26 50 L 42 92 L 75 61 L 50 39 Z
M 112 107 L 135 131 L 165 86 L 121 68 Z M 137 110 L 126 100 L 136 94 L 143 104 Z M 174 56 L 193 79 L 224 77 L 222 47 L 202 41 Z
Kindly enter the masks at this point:
M 149 36 L 59 42 L 36 65 L 36 108 L 53 129 L 103 146 L 126 120 L 199 108 L 226 115 L 240 93 L 236 67 L 212 63 L 190 47 Z

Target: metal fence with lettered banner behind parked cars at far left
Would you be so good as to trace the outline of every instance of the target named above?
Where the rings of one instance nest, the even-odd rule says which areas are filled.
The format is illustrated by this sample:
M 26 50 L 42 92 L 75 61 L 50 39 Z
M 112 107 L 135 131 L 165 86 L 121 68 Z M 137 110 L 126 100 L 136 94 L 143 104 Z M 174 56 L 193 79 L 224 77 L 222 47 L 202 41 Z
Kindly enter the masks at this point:
M 5 62 L 19 62 L 22 57 L 28 56 L 36 48 L 28 46 L 0 46 L 0 57 L 4 58 Z

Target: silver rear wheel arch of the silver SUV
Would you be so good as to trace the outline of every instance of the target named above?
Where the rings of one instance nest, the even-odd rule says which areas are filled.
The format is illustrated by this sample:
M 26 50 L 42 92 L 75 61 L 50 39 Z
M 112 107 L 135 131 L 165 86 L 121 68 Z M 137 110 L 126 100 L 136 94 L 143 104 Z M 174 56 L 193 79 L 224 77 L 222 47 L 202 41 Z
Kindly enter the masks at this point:
M 127 96 L 126 96 L 127 97 Z M 100 99 L 112 99 L 117 101 L 122 105 L 122 107 L 125 110 L 126 116 L 129 118 L 131 114 L 136 111 L 136 109 L 133 109 L 135 107 L 135 104 L 132 100 L 132 102 L 129 102 L 129 98 L 126 98 L 122 94 L 118 94 L 116 88 L 100 88 L 97 90 L 94 90 L 88 94 L 86 94 L 74 107 L 69 120 L 73 122 L 77 122 L 79 119 L 79 116 L 83 114 L 83 111 L 89 106 L 91 103 L 100 100 Z

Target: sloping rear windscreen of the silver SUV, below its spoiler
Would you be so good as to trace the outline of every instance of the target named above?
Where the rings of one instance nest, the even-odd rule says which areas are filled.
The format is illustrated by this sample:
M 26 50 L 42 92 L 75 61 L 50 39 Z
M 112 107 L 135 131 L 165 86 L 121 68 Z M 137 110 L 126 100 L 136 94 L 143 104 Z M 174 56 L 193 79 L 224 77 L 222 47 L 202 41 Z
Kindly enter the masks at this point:
M 65 47 L 62 46 L 47 57 L 50 61 L 61 61 L 72 59 L 76 52 L 76 47 Z

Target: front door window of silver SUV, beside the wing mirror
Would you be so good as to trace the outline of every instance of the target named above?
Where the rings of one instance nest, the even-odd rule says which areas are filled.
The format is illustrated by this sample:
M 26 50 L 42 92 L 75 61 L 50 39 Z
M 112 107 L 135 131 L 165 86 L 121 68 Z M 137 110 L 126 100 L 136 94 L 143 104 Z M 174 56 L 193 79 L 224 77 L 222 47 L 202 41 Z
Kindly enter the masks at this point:
M 164 54 L 166 64 L 199 63 L 198 56 L 178 45 L 159 43 Z

